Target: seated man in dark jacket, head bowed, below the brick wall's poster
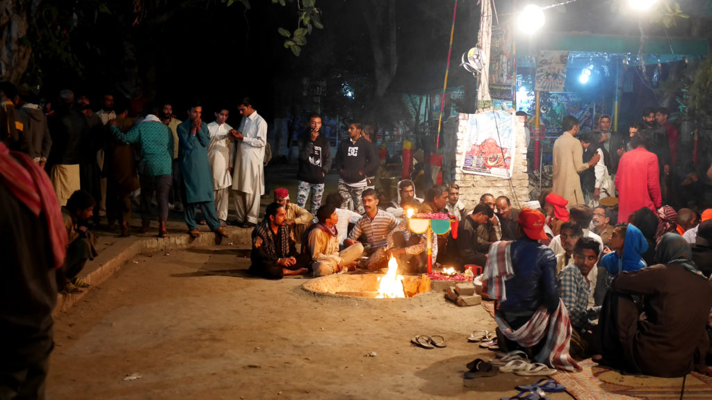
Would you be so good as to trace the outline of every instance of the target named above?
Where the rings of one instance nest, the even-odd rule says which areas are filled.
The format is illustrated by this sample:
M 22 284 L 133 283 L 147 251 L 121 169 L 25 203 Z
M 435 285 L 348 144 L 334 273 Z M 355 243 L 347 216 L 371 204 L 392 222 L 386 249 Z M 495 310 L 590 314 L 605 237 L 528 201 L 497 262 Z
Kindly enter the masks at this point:
M 493 241 L 491 236 L 481 236 L 483 230 L 478 228 L 486 226 L 493 214 L 487 204 L 477 204 L 472 214 L 459 223 L 455 246 L 451 246 L 452 250 L 449 252 L 454 263 L 460 267 L 468 264 L 485 265 L 487 252 Z

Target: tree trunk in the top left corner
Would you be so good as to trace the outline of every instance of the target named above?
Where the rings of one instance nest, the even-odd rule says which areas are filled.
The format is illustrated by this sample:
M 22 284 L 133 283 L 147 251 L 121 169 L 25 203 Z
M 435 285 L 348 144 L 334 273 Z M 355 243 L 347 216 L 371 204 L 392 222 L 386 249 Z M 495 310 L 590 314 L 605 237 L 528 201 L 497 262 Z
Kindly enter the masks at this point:
M 38 0 L 0 0 L 0 80 L 17 85 L 27 70 L 32 49 L 21 38 L 26 36 L 28 19 L 38 4 Z

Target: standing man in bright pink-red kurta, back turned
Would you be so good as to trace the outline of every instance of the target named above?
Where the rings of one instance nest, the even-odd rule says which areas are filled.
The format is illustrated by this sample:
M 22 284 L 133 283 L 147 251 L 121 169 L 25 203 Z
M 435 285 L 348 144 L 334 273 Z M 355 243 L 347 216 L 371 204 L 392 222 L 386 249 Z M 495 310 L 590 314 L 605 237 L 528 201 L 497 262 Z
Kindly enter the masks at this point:
M 634 149 L 623 154 L 616 174 L 618 223 L 641 207 L 655 212 L 662 205 L 658 157 L 647 150 L 645 133 L 637 132 L 630 142 Z

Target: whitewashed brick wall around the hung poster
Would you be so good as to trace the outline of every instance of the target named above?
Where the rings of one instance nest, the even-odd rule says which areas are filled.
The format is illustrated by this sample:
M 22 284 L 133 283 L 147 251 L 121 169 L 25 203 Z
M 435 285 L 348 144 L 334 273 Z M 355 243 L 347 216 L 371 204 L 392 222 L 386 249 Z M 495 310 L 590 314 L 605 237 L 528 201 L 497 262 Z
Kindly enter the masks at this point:
M 466 152 L 466 139 L 468 121 L 471 115 L 460 114 L 457 130 L 457 164 L 455 171 L 455 182 L 460 186 L 460 200 L 465 204 L 468 211 L 471 211 L 480 201 L 480 196 L 485 193 L 493 196 L 507 196 L 515 209 L 521 209 L 521 204 L 529 201 L 529 180 L 527 175 L 527 149 L 524 136 L 524 127 L 521 122 L 517 122 L 515 130 L 517 132 L 516 151 L 514 154 L 514 170 L 510 182 L 504 178 L 485 177 L 483 175 L 464 174 L 461 171 Z

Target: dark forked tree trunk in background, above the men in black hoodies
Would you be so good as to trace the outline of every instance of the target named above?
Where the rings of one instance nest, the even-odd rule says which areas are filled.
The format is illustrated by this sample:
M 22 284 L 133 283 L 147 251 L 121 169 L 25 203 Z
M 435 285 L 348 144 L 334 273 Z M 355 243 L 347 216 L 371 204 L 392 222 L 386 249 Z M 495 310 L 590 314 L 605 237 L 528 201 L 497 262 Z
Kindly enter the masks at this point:
M 398 67 L 395 0 L 362 1 L 363 13 L 374 60 L 375 95 L 382 98 Z M 388 53 L 388 57 L 386 56 Z

